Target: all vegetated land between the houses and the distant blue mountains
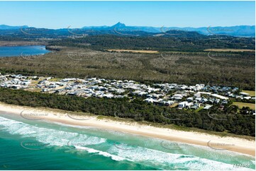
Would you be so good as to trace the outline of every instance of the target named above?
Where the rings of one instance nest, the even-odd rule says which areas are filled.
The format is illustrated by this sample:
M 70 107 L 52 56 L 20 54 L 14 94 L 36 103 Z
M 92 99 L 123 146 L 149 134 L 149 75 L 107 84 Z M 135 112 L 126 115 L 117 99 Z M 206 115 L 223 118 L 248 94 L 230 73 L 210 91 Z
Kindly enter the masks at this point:
M 26 57 L 27 60 L 0 58 L 0 72 L 61 78 L 130 79 L 146 83 L 211 83 L 255 90 L 254 37 L 185 33 L 182 31 L 175 36 L 110 33 L 56 39 L 51 38 L 53 35 L 5 35 L 0 37 L 0 45 L 46 45 L 52 52 Z M 226 49 L 233 49 L 233 52 Z

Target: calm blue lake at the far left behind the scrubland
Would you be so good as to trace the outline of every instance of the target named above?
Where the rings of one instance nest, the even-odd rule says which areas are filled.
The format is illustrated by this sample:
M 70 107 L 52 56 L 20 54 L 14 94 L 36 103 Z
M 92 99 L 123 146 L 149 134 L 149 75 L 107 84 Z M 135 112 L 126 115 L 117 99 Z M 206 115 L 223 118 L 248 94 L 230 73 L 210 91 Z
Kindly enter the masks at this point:
M 0 57 L 21 57 L 50 52 L 43 45 L 0 47 Z

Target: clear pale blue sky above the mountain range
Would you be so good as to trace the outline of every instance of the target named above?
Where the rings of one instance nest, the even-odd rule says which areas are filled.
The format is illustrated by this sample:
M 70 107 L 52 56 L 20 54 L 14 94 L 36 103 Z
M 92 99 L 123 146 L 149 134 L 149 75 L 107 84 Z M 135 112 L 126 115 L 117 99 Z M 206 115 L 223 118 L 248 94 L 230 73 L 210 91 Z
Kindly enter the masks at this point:
M 255 25 L 255 1 L 0 1 L 0 25 Z

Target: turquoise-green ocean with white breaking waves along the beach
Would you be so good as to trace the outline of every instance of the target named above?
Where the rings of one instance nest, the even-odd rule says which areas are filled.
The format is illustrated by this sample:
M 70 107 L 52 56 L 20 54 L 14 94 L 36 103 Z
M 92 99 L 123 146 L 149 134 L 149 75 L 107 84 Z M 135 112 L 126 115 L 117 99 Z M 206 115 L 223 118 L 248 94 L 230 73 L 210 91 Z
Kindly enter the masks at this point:
M 0 112 L 0 170 L 255 170 L 255 157 Z

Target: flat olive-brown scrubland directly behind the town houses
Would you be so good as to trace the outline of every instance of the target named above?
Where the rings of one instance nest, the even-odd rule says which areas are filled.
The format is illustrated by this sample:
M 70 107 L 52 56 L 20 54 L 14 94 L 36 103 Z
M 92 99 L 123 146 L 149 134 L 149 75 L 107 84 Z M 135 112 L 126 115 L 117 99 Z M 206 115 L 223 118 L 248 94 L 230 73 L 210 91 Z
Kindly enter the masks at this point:
M 146 83 L 204 83 L 255 90 L 255 54 L 252 52 L 160 52 L 142 54 L 105 52 L 78 47 L 52 47 L 38 57 L 0 58 L 0 73 L 97 77 Z M 211 58 L 208 57 L 211 55 Z M 217 60 L 214 60 L 217 59 Z M 218 60 L 219 59 L 219 60 Z

